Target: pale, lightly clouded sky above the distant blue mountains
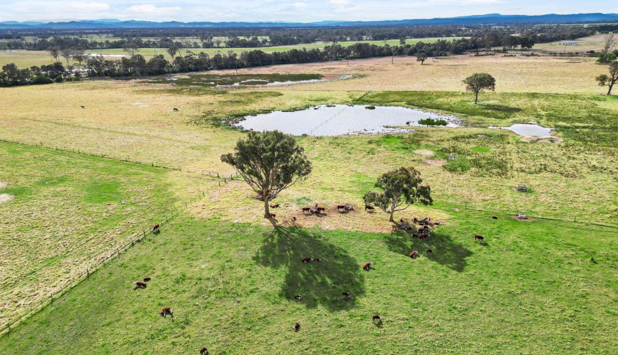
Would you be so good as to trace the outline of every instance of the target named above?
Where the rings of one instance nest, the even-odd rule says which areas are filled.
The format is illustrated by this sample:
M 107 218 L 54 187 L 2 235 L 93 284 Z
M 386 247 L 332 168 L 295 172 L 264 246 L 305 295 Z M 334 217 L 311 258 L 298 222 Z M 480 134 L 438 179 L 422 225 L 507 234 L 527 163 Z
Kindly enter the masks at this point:
M 618 13 L 618 0 L 0 0 L 0 21 L 317 22 Z

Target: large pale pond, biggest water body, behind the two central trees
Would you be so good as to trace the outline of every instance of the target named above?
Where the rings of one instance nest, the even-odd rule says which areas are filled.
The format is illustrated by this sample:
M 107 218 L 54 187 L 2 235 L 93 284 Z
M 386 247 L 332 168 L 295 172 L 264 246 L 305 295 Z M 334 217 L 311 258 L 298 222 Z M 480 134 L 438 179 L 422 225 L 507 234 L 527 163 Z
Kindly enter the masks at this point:
M 438 113 L 412 108 L 376 106 L 368 110 L 365 105 L 316 106 L 307 110 L 276 111 L 256 116 L 246 116 L 235 124 L 237 128 L 253 131 L 275 129 L 294 136 L 342 136 L 347 134 L 378 134 L 409 132 L 391 126 L 423 126 L 418 120 L 432 118 L 446 120 L 447 127 L 458 127 L 459 119 Z

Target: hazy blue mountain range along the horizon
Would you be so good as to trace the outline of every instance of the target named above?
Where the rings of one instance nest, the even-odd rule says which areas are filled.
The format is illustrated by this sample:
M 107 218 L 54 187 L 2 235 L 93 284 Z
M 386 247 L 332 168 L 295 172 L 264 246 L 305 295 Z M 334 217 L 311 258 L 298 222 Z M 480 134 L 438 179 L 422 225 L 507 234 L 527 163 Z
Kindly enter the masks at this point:
M 176 28 L 176 27 L 325 27 L 325 26 L 420 26 L 420 25 L 504 25 L 508 23 L 573 23 L 573 22 L 618 22 L 618 14 L 571 14 L 571 15 L 501 15 L 486 14 L 460 17 L 438 17 L 416 20 L 386 21 L 321 21 L 321 22 L 151 22 L 121 21 L 114 18 L 69 22 L 0 22 L 1 29 L 96 29 L 96 28 Z

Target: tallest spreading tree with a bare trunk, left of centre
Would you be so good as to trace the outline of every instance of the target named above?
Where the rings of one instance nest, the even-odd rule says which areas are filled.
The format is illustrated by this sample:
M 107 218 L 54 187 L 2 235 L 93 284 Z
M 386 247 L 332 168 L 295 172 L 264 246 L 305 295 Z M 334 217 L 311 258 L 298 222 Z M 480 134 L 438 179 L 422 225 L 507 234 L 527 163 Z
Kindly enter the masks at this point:
M 279 131 L 250 132 L 236 143 L 234 153 L 221 155 L 252 189 L 264 198 L 264 217 L 270 218 L 269 200 L 311 173 L 311 162 L 296 139 Z

